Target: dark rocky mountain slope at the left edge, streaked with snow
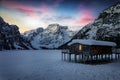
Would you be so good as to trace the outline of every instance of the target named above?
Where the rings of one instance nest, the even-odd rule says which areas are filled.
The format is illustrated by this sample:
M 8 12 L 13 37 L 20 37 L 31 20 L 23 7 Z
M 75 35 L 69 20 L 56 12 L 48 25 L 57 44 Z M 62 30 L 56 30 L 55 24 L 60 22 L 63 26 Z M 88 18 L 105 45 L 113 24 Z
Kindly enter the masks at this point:
M 9 25 L 0 17 L 0 50 L 32 49 L 29 42 L 20 35 L 16 25 Z

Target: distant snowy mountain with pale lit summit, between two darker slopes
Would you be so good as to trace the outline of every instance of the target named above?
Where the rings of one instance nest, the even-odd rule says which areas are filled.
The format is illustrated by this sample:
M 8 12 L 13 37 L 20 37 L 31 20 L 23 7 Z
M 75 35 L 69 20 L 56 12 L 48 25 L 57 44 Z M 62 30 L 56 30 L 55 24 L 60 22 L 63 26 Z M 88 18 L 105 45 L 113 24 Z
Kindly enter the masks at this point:
M 40 48 L 58 48 L 69 41 L 76 32 L 70 31 L 67 26 L 50 24 L 46 29 L 38 28 L 25 32 L 23 35 L 28 38 L 32 46 Z

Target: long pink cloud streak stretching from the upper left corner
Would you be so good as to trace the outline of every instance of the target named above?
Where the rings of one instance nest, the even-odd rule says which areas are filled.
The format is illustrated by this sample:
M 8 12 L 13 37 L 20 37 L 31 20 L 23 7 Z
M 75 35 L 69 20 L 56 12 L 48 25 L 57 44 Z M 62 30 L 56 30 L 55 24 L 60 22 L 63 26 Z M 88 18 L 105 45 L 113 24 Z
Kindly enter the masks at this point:
M 34 7 L 34 6 L 23 5 L 17 2 L 10 2 L 10 1 L 3 1 L 2 5 L 20 11 L 26 14 L 28 17 L 32 17 L 32 18 L 39 17 L 40 13 L 43 14 L 49 13 L 51 10 L 47 5 L 42 5 L 41 7 Z

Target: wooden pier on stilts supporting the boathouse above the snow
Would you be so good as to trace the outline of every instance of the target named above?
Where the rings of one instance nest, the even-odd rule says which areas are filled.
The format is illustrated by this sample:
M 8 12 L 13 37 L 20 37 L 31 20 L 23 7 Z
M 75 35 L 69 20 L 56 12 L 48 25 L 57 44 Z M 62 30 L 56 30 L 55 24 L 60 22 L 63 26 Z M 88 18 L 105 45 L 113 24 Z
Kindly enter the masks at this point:
M 88 54 L 85 55 L 85 53 L 70 53 L 69 50 L 62 50 L 61 52 L 61 59 L 63 61 L 68 61 L 68 62 L 75 62 L 75 63 L 79 63 L 79 62 L 84 62 L 86 63 L 87 61 L 89 61 L 90 63 L 92 63 L 93 61 L 114 61 L 114 60 L 119 60 L 120 59 L 120 53 L 111 53 L 111 54 L 97 54 L 97 55 L 92 55 L 92 54 Z

